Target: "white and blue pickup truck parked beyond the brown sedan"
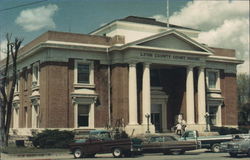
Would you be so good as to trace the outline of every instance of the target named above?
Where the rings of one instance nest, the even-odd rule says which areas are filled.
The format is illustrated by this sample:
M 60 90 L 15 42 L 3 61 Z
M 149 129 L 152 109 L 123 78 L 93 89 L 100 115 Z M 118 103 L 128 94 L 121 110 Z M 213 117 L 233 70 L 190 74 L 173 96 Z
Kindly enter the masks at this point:
M 181 136 L 181 140 L 198 140 L 201 142 L 201 148 L 211 149 L 213 152 L 220 152 L 220 143 L 229 142 L 233 139 L 233 135 L 219 136 L 199 136 L 198 131 L 185 131 Z

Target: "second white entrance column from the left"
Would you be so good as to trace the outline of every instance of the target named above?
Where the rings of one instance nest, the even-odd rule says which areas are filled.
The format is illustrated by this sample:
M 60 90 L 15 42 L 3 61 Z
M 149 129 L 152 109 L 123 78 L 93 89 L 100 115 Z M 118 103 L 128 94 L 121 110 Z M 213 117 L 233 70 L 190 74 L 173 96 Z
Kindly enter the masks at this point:
M 149 64 L 145 63 L 143 67 L 142 78 L 142 124 L 147 124 L 146 114 L 151 113 L 151 97 L 150 97 L 150 69 Z

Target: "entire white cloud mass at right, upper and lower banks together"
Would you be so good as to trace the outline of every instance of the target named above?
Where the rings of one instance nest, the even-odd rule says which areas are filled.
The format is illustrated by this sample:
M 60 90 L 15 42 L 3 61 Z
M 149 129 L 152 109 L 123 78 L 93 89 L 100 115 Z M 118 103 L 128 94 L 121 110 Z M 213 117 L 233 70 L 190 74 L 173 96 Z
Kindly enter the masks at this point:
M 163 15 L 153 17 L 166 22 Z M 249 73 L 249 1 L 195 0 L 175 12 L 170 23 L 202 30 L 198 41 L 209 46 L 235 49 L 245 60 L 238 71 Z

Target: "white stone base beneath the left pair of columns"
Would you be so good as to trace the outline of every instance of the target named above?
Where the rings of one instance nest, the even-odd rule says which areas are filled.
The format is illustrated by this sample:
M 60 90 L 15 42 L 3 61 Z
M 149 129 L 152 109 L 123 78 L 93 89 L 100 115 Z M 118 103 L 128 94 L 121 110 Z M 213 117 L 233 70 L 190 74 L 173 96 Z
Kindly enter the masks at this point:
M 126 133 L 129 135 L 129 136 L 136 136 L 136 135 L 139 135 L 139 134 L 146 134 L 147 133 L 147 129 L 148 129 L 148 126 L 147 125 L 127 125 L 125 127 L 125 131 Z M 149 125 L 149 132 L 150 134 L 154 134 L 155 133 L 155 126 L 150 124 Z

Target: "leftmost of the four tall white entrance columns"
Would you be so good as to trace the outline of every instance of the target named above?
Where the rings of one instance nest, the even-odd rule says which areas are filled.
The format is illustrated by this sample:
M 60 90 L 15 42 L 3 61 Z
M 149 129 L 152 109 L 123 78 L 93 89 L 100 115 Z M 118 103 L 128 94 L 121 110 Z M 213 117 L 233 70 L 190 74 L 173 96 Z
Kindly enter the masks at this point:
M 136 64 L 129 64 L 129 125 L 137 125 Z

